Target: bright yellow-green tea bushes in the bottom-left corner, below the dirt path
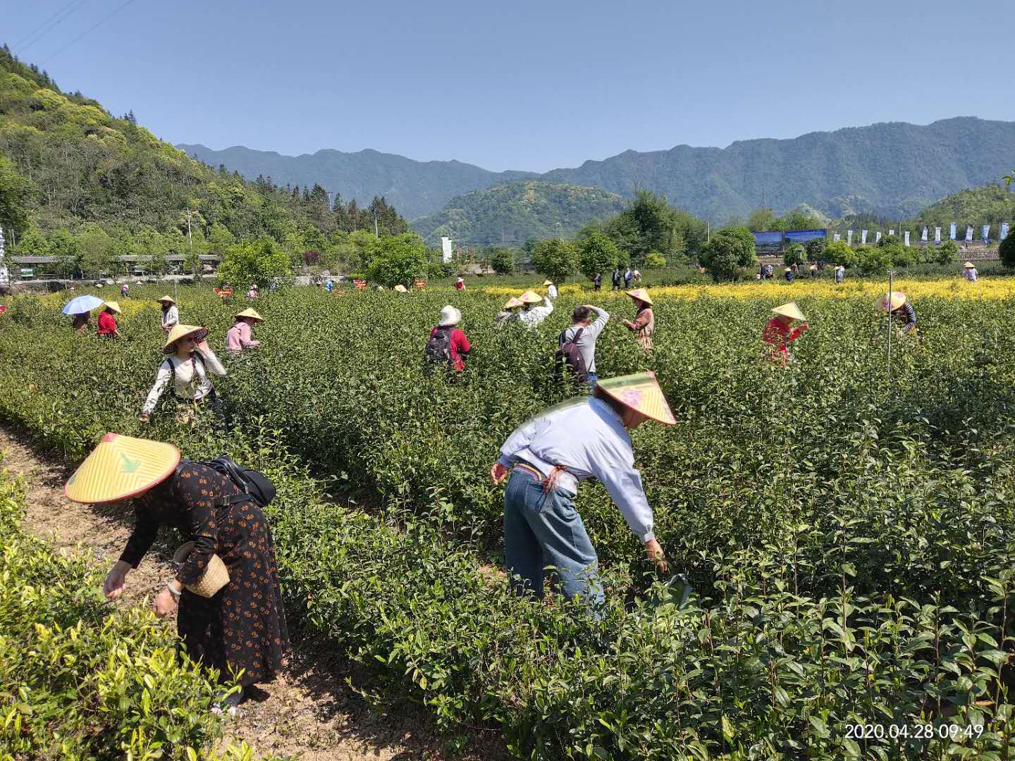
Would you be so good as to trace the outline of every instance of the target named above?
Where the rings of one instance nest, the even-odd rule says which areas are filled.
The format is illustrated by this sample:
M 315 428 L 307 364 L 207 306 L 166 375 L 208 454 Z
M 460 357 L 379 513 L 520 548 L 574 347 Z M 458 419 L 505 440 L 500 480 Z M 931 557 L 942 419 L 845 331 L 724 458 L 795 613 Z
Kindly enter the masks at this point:
M 0 472 L 0 759 L 246 759 L 224 755 L 217 689 L 145 607 L 115 610 L 101 576 L 18 526 L 23 494 Z

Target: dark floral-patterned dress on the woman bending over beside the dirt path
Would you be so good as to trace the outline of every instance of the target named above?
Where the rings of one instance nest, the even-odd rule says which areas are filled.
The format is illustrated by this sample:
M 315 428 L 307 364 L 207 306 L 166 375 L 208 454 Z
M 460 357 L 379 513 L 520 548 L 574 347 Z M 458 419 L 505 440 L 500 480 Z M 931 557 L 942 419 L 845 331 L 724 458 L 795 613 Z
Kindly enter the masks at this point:
M 137 524 L 120 559 L 136 568 L 159 526 L 175 527 L 194 542 L 177 574 L 185 584 L 197 581 L 217 554 L 229 582 L 212 598 L 184 590 L 177 626 L 192 659 L 218 669 L 222 681 L 242 670 L 239 682 L 248 687 L 275 678 L 289 635 L 268 521 L 253 501 L 214 504 L 217 496 L 239 493 L 227 477 L 184 461 L 175 475 L 137 499 Z

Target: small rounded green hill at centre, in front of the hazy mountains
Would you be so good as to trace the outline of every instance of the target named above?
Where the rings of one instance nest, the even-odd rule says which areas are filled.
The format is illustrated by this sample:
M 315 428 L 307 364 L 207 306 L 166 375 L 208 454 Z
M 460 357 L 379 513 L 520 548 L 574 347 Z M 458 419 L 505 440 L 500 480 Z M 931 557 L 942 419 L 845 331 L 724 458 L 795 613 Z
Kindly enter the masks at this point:
M 570 236 L 587 223 L 612 216 L 624 199 L 598 188 L 522 180 L 466 193 L 412 228 L 432 243 L 521 244 L 530 237 Z

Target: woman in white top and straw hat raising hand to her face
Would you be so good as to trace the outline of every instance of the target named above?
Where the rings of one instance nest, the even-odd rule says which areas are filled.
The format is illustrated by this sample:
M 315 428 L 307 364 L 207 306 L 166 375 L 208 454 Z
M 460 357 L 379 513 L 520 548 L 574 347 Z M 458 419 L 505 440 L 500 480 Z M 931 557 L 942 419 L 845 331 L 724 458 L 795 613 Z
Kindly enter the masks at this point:
M 205 341 L 207 335 L 207 328 L 193 325 L 177 325 L 170 331 L 162 347 L 162 352 L 168 356 L 158 366 L 155 385 L 141 408 L 141 422 L 148 421 L 165 387 L 172 383 L 179 403 L 178 422 L 193 425 L 197 409 L 207 405 L 218 420 L 218 427 L 224 430 L 225 412 L 215 396 L 208 373 L 224 375 L 225 367 Z

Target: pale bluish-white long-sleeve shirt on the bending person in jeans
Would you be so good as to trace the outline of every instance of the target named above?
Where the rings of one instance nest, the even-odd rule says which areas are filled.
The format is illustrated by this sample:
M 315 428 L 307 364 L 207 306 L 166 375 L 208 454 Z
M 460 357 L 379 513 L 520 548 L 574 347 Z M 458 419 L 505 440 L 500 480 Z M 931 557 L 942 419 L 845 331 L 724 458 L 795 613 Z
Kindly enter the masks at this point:
M 642 542 L 656 538 L 631 437 L 620 416 L 600 399 L 569 399 L 530 418 L 504 441 L 497 462 L 505 468 L 525 462 L 544 477 L 555 466 L 566 466 L 557 485 L 576 494 L 580 481 L 597 478 L 630 530 Z

